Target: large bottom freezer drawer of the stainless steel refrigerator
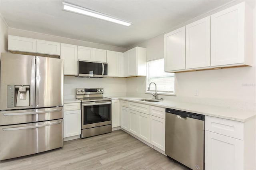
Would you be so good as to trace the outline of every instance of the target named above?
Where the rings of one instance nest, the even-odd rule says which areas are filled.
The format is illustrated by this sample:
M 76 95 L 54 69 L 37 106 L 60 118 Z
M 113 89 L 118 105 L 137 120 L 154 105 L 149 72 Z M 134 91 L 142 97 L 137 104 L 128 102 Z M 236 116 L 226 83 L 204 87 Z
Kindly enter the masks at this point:
M 0 160 L 63 147 L 63 119 L 0 127 Z

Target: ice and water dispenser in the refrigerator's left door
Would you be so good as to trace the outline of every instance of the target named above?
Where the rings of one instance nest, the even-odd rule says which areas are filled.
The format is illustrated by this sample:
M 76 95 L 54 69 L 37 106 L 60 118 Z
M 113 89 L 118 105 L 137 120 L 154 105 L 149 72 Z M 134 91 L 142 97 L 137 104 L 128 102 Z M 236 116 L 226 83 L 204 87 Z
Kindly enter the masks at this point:
M 7 85 L 7 107 L 22 107 L 30 105 L 29 85 Z

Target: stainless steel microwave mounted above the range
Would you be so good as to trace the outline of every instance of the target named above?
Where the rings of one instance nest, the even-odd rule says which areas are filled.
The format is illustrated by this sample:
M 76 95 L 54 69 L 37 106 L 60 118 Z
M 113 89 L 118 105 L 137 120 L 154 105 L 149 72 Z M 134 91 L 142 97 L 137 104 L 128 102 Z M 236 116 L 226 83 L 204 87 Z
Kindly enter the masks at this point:
M 78 77 L 108 77 L 108 64 L 78 61 Z

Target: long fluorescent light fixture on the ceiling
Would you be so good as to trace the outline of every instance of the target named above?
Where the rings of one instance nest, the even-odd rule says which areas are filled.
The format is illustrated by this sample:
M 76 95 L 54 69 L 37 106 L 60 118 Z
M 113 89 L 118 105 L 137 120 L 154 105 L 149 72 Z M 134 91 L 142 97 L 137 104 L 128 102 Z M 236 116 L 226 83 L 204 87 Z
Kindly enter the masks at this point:
M 80 6 L 68 4 L 66 2 L 62 2 L 62 9 L 66 10 L 66 11 L 70 11 L 70 12 L 83 14 L 83 15 L 86 15 L 86 16 L 91 16 L 91 17 L 102 19 L 102 20 L 114 22 L 114 23 L 121 24 L 121 25 L 124 25 L 124 26 L 130 26 L 132 24 L 131 22 L 123 21 L 123 20 L 120 20 L 118 18 L 114 18 L 112 16 L 102 14 L 100 12 L 96 12 L 96 11 L 93 11 L 93 10 L 89 10 L 87 8 L 83 8 L 83 7 L 80 7 Z

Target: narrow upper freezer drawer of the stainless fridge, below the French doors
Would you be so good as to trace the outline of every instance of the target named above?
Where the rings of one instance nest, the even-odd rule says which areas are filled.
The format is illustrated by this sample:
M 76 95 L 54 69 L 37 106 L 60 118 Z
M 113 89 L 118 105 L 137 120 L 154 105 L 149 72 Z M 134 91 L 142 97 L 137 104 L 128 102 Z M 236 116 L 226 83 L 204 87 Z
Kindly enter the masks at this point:
M 63 118 L 63 107 L 0 111 L 0 126 Z

